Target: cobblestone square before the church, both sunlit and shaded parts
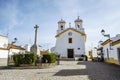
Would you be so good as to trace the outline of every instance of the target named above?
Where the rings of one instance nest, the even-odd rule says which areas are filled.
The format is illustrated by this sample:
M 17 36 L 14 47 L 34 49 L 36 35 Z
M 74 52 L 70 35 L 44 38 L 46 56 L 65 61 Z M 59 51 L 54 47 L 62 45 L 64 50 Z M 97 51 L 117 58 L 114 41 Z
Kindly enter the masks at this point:
M 0 80 L 120 80 L 120 66 L 61 61 L 60 65 L 47 69 L 0 69 Z

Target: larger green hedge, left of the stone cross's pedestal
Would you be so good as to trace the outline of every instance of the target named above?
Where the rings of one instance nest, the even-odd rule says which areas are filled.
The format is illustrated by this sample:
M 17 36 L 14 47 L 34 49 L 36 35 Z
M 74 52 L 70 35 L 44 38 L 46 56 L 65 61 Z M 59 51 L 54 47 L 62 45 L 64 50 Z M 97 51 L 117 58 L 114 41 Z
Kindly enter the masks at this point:
M 13 60 L 15 66 L 19 66 L 20 64 L 35 64 L 36 54 L 35 53 L 14 54 Z

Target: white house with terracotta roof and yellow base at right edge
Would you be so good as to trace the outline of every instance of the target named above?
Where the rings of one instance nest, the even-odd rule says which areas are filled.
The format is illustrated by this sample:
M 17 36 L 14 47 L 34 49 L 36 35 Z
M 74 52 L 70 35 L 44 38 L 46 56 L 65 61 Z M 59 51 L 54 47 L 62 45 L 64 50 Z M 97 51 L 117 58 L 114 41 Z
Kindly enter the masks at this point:
M 110 48 L 111 45 L 111 48 Z M 105 62 L 120 64 L 120 34 L 102 43 Z

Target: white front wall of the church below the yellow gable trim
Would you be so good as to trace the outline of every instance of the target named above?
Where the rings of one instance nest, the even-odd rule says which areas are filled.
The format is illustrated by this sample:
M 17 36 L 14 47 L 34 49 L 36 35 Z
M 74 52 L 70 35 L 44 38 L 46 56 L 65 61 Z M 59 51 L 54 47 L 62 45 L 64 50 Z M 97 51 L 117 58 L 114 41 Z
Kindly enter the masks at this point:
M 72 36 L 68 36 L 68 33 L 72 32 Z M 68 38 L 72 38 L 72 43 L 68 43 Z M 74 54 L 85 53 L 84 37 L 81 34 L 68 30 L 57 37 L 55 52 L 61 54 L 61 56 L 67 57 L 67 49 L 74 49 Z M 80 50 L 78 50 L 80 48 Z

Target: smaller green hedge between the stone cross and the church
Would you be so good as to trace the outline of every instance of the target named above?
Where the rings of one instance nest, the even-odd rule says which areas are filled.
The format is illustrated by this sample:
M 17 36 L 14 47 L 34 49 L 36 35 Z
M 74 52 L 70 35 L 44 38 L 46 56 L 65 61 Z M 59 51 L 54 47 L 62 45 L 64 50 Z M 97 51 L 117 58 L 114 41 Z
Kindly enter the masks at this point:
M 42 62 L 43 63 L 55 63 L 56 62 L 56 54 L 54 54 L 54 53 L 43 54 Z

